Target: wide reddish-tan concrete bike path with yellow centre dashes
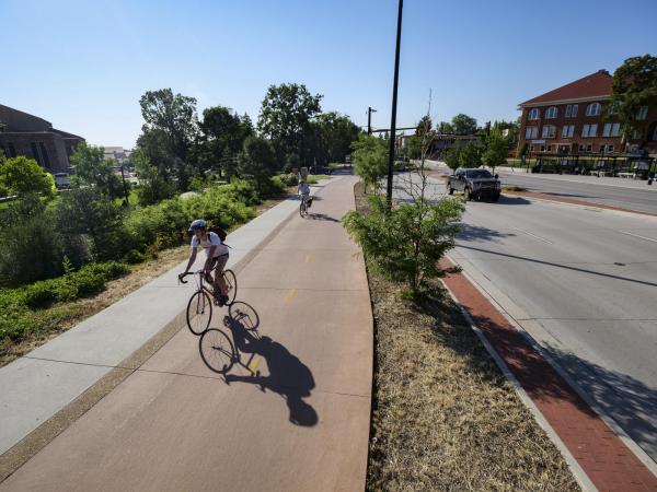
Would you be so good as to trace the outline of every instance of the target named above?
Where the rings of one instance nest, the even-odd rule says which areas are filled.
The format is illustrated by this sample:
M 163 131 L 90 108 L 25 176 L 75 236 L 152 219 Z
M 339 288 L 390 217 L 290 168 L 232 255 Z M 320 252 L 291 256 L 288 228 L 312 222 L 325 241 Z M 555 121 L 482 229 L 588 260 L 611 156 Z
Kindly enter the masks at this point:
M 215 313 L 243 365 L 214 373 L 183 327 L 0 490 L 362 490 L 372 318 L 339 224 L 354 183 L 325 187 L 244 266 L 228 327 Z

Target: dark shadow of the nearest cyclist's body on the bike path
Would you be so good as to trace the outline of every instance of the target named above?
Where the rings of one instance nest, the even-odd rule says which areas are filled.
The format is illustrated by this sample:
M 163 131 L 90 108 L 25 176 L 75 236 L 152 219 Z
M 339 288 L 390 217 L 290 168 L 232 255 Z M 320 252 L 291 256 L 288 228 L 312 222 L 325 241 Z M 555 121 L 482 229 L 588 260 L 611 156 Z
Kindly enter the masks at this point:
M 223 324 L 232 332 L 235 351 L 261 355 L 269 371 L 267 376 L 262 376 L 260 372 L 247 376 L 227 374 L 226 383 L 251 383 L 260 386 L 263 391 L 275 391 L 285 398 L 290 411 L 290 422 L 302 426 L 315 425 L 318 413 L 303 401 L 315 386 L 310 368 L 283 344 L 269 337 L 260 337 L 240 316 L 226 316 Z

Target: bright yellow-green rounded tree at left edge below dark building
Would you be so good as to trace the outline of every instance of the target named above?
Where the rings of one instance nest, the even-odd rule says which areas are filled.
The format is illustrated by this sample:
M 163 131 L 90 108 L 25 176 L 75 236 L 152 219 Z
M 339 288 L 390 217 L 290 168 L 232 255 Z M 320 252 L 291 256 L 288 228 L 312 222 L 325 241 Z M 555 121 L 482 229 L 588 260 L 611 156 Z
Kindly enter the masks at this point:
M 55 179 L 33 159 L 24 155 L 0 161 L 0 188 L 9 195 L 55 195 Z

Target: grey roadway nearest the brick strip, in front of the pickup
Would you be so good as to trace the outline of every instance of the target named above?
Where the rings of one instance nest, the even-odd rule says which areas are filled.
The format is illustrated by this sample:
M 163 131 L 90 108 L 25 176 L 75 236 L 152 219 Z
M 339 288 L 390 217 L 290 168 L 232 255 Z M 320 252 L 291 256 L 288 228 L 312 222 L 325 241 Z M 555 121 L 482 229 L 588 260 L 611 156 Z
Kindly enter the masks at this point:
M 657 461 L 657 218 L 503 196 L 463 222 L 452 259 Z

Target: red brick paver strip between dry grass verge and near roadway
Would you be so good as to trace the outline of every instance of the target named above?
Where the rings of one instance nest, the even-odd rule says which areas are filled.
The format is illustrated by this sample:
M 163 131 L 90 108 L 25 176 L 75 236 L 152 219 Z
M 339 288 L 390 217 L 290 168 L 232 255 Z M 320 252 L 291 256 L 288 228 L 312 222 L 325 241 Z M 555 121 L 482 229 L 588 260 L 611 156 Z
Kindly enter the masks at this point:
M 657 491 L 657 477 L 463 274 L 443 282 L 598 490 Z

